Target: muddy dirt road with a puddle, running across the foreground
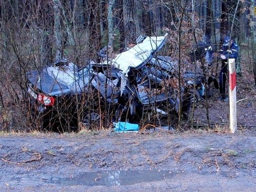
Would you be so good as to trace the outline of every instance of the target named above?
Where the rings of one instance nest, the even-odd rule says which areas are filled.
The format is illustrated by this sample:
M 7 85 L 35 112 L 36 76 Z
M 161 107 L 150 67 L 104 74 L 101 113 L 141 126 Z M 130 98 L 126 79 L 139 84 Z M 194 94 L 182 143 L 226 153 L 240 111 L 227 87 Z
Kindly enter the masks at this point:
M 2 135 L 0 191 L 252 191 L 256 134 Z

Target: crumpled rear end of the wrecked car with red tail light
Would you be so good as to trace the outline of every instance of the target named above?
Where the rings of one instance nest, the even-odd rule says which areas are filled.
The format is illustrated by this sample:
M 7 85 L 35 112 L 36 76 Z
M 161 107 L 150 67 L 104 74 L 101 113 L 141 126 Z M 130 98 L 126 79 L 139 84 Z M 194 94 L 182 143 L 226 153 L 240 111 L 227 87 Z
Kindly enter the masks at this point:
M 119 71 L 93 63 L 78 69 L 67 60 L 30 71 L 27 92 L 32 118 L 41 121 L 39 126 L 48 129 L 55 125 L 58 131 L 73 130 L 79 122 L 86 126 L 97 123 L 101 119 L 99 106 L 108 103 L 112 107 L 117 102 Z

